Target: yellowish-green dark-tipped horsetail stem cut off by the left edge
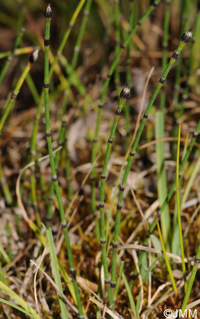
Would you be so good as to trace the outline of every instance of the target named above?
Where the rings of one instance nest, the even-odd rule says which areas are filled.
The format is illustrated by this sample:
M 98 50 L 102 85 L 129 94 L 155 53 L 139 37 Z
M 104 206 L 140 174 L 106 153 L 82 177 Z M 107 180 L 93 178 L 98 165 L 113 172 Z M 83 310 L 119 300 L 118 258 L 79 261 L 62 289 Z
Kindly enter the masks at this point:
M 20 79 L 18 80 L 18 82 L 17 82 L 17 84 L 15 86 L 15 89 L 14 89 L 14 91 L 13 91 L 13 93 L 12 93 L 8 103 L 7 103 L 7 105 L 4 106 L 4 112 L 3 112 L 3 115 L 2 115 L 2 117 L 0 119 L 0 133 L 2 131 L 2 127 L 3 127 L 4 123 L 5 123 L 5 120 L 6 120 L 7 116 L 8 116 L 8 114 L 9 114 L 12 106 L 13 106 L 14 102 L 17 99 L 17 96 L 18 96 L 18 93 L 19 93 L 19 91 L 20 91 L 20 89 L 22 87 L 22 84 L 24 83 L 24 80 L 26 79 L 26 76 L 29 73 L 31 66 L 37 60 L 37 57 L 38 57 L 38 50 L 35 50 L 30 55 L 29 62 L 27 64 L 27 66 L 25 67 Z

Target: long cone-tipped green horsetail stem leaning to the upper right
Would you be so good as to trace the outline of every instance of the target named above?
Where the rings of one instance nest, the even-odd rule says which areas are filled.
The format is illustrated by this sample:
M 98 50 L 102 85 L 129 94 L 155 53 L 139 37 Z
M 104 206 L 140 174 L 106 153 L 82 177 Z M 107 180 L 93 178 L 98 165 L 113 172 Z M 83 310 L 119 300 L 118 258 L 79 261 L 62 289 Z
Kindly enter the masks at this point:
M 114 241 L 113 241 L 113 251 L 112 251 L 112 273 L 111 273 L 111 285 L 112 285 L 112 289 L 113 290 L 114 290 L 114 287 L 115 287 L 116 251 L 117 251 L 117 242 L 118 242 L 119 225 L 120 225 L 120 217 L 121 217 L 121 204 L 122 204 L 122 199 L 123 199 L 124 187 L 125 187 L 125 184 L 126 184 L 128 173 L 129 173 L 130 168 L 131 168 L 131 163 L 133 161 L 133 157 L 135 155 L 136 148 L 138 146 L 141 134 L 143 132 L 143 128 L 144 128 L 145 122 L 146 122 L 146 120 L 148 118 L 148 115 L 149 115 L 149 112 L 150 112 L 150 109 L 151 109 L 151 106 L 153 105 L 153 102 L 155 101 L 155 98 L 156 98 L 158 92 L 160 91 L 161 87 L 163 86 L 163 84 L 164 84 L 164 82 L 165 82 L 165 80 L 166 80 L 166 78 L 168 76 L 168 73 L 169 73 L 172 65 L 177 60 L 177 58 L 178 58 L 179 54 L 181 53 L 181 51 L 183 50 L 183 48 L 190 41 L 190 39 L 192 37 L 192 30 L 193 30 L 193 27 L 191 27 L 188 31 L 186 31 L 182 35 L 181 41 L 179 43 L 178 48 L 172 54 L 170 62 L 168 64 L 168 66 L 166 67 L 165 71 L 163 72 L 163 75 L 160 78 L 160 80 L 158 82 L 158 85 L 157 85 L 157 87 L 156 87 L 156 89 L 155 89 L 155 91 L 154 91 L 154 93 L 153 93 L 153 95 L 151 97 L 151 100 L 150 100 L 150 102 L 149 102 L 149 104 L 148 104 L 148 106 L 146 108 L 146 111 L 145 111 L 145 113 L 143 115 L 143 119 L 142 119 L 140 128 L 138 130 L 138 133 L 136 135 L 136 139 L 135 139 L 135 141 L 133 143 L 131 152 L 130 152 L 129 157 L 128 157 L 128 163 L 126 165 L 126 169 L 125 169 L 125 172 L 124 172 L 124 176 L 123 176 L 123 179 L 122 179 L 121 186 L 119 187 L 119 196 L 118 196 L 118 203 L 117 203 L 117 209 L 116 209 L 116 221 L 115 221 Z M 156 221 L 155 221 L 155 223 L 156 223 Z

